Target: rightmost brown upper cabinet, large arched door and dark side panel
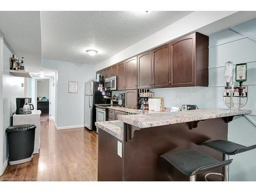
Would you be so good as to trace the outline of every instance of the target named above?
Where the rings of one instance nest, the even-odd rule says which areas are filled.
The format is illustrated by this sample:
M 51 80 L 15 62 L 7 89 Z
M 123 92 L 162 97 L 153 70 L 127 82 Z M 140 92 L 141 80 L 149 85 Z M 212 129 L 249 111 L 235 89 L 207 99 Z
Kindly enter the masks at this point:
M 193 33 L 169 43 L 171 87 L 208 86 L 209 37 Z

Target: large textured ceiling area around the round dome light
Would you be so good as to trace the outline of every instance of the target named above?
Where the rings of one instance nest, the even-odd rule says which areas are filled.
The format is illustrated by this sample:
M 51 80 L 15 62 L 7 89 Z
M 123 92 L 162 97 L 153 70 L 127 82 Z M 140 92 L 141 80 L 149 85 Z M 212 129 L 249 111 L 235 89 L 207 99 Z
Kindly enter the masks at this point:
M 189 13 L 42 11 L 42 57 L 97 64 Z M 88 49 L 96 49 L 98 54 L 89 56 Z

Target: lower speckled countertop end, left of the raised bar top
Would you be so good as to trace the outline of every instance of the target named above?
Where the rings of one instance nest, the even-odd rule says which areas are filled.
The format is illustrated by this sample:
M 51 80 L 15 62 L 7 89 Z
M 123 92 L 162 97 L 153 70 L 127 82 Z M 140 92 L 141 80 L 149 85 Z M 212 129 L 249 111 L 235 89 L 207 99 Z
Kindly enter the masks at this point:
M 123 140 L 123 129 L 122 127 L 115 126 L 110 122 L 120 122 L 120 121 L 102 121 L 102 122 L 95 122 L 95 125 L 102 129 L 103 131 L 113 135 L 117 139 Z

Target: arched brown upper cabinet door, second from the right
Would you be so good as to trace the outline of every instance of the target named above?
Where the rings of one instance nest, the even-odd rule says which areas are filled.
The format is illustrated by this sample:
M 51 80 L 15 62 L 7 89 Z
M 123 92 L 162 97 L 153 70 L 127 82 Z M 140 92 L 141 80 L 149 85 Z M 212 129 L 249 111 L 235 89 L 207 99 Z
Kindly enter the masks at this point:
M 169 87 L 168 46 L 163 45 L 153 50 L 153 88 Z

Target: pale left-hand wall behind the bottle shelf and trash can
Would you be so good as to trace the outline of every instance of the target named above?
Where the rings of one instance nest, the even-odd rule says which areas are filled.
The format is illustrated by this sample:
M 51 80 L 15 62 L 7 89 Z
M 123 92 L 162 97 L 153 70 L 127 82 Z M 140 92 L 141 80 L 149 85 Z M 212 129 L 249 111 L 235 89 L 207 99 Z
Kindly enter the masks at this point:
M 5 130 L 12 124 L 12 114 L 16 111 L 16 97 L 24 97 L 25 89 L 22 83 L 25 83 L 25 78 L 16 77 L 9 73 L 10 57 L 12 51 L 7 42 L 3 45 L 3 165 L 7 163 L 8 144 L 7 134 Z M 2 76 L 2 74 L 1 74 Z

